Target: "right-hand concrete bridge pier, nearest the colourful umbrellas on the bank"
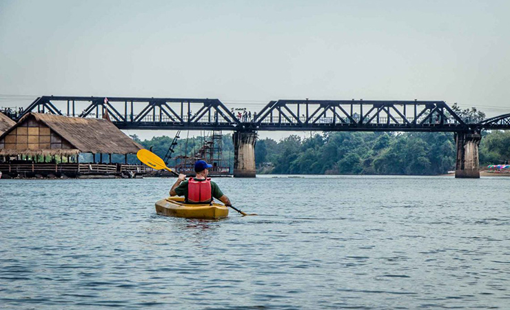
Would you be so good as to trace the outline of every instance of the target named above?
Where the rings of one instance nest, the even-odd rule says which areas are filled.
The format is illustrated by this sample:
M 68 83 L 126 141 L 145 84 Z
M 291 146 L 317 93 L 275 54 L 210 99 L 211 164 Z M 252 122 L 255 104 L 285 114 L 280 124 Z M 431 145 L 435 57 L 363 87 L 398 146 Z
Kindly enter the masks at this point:
M 480 132 L 456 132 L 456 178 L 480 178 L 480 168 L 478 166 L 480 140 L 482 140 Z

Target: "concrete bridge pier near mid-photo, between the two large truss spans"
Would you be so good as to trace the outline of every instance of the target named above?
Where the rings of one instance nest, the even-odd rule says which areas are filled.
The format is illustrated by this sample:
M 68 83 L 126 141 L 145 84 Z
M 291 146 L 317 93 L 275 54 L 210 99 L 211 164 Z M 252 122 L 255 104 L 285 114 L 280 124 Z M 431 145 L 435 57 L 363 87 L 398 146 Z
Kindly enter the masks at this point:
M 254 178 L 256 132 L 234 132 L 234 178 Z

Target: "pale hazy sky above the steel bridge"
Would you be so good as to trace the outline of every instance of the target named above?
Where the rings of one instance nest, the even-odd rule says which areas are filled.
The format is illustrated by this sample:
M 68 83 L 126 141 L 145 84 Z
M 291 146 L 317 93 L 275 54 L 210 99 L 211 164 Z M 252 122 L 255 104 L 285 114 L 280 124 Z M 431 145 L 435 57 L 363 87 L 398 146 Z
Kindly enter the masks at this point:
M 495 116 L 510 112 L 509 14 L 510 1 L 0 0 L 0 105 L 420 99 Z

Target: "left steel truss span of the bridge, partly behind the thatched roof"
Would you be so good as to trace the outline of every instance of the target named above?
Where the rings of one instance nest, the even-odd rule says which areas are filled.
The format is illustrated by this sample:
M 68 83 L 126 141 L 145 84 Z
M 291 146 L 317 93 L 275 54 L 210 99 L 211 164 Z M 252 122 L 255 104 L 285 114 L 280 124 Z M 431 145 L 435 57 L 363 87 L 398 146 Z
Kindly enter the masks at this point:
M 240 124 L 218 99 L 41 96 L 19 118 L 28 112 L 95 118 L 108 115 L 120 129 L 234 130 Z

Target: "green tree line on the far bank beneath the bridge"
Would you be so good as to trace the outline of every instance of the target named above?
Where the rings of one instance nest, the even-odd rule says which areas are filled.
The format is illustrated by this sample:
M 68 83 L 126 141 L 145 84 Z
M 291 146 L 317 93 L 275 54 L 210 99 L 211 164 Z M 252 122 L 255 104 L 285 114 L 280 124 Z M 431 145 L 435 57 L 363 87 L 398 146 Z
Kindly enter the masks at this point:
M 132 138 L 162 158 L 172 143 L 168 136 Z M 192 154 L 204 141 L 203 136 L 180 139 L 174 156 Z M 224 164 L 233 169 L 232 134 L 223 135 L 222 144 Z M 510 131 L 482 132 L 479 152 L 480 167 L 508 163 Z M 455 169 L 456 148 L 449 132 L 325 132 L 258 140 L 255 162 L 258 174 L 437 175 Z

